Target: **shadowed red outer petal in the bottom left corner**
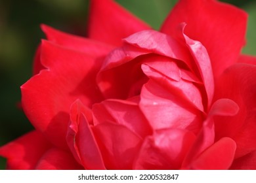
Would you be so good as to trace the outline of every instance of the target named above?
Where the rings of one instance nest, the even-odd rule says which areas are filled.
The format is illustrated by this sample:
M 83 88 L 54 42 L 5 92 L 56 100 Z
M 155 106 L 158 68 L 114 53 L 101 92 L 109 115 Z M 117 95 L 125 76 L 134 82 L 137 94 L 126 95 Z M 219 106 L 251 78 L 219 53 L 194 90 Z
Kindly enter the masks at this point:
M 39 131 L 32 131 L 0 148 L 0 156 L 7 158 L 7 169 L 35 169 L 37 161 L 51 147 Z

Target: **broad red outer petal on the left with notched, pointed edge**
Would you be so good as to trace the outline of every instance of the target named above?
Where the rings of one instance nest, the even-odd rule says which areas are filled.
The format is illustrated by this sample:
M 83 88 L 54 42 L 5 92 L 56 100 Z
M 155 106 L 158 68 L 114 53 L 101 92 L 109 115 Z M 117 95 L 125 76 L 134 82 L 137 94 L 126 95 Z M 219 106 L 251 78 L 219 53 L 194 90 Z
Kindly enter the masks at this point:
M 95 77 L 100 61 L 43 41 L 41 62 L 47 70 L 22 85 L 22 107 L 30 122 L 56 146 L 68 147 L 66 129 L 76 99 L 91 107 L 102 100 Z

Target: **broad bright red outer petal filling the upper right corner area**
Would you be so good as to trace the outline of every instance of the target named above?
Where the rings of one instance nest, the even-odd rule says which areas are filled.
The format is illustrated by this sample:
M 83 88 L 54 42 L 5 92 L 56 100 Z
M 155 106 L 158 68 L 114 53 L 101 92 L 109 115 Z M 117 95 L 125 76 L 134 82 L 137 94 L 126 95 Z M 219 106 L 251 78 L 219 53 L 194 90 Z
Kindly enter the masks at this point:
M 245 43 L 247 14 L 243 10 L 215 0 L 181 0 L 161 31 L 173 35 L 182 22 L 188 24 L 185 34 L 207 48 L 215 78 L 237 61 Z

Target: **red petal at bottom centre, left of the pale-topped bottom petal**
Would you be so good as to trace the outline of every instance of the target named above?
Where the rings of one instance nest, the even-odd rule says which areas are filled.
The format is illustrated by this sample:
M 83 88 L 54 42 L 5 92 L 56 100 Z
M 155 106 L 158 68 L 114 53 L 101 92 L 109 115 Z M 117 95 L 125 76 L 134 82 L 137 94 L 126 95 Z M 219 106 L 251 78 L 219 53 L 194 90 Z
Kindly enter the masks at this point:
M 142 140 L 127 127 L 110 122 L 93 127 L 106 169 L 132 169 Z

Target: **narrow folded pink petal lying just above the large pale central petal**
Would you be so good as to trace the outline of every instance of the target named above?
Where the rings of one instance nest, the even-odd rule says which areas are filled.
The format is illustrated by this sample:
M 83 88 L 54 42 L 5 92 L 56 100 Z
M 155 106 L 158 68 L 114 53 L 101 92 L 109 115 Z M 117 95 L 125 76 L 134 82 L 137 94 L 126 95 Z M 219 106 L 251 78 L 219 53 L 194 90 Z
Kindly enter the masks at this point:
M 161 85 L 173 95 L 179 96 L 183 103 L 190 103 L 203 111 L 202 94 L 198 87 L 188 80 L 183 80 L 182 70 L 177 64 L 162 56 L 151 56 L 142 64 L 142 71 L 148 78 Z

